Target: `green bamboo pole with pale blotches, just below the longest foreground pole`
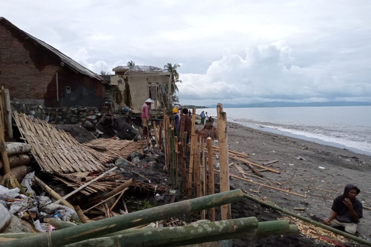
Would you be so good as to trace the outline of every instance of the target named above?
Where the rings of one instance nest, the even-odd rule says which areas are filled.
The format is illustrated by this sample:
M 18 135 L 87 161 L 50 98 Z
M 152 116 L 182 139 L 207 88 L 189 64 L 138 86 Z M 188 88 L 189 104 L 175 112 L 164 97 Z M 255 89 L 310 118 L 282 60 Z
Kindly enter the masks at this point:
M 242 233 L 247 231 L 255 233 L 257 227 L 258 221 L 256 217 L 249 217 L 217 222 L 194 223 L 188 226 L 142 228 L 137 229 L 137 231 L 133 233 L 120 234 L 99 239 L 89 239 L 79 243 L 69 244 L 65 247 L 142 247 L 158 244 L 167 246 L 167 244 L 174 241 L 188 240 L 191 238 L 204 238 L 223 233 Z

